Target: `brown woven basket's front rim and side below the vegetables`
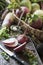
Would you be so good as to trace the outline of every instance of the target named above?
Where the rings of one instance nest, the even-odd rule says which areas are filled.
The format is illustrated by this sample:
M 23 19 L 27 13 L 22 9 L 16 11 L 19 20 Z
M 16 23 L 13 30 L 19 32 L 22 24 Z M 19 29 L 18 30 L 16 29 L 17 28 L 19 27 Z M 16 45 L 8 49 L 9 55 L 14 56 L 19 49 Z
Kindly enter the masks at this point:
M 17 22 L 20 20 L 16 15 L 15 15 L 15 18 L 16 18 Z M 29 26 L 28 24 L 26 24 L 23 20 L 20 20 L 20 21 L 21 21 L 20 22 L 20 26 L 22 26 L 22 30 L 25 30 L 27 28 L 27 33 L 29 35 L 34 35 L 39 40 L 43 41 L 43 31 L 42 30 L 32 28 L 31 26 Z

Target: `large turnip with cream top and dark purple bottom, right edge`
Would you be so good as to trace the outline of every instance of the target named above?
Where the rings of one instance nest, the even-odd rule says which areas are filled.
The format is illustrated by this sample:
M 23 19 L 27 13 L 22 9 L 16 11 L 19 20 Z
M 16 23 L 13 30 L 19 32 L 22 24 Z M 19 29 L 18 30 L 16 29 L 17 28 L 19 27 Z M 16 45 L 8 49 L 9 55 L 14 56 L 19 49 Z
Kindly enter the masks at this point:
M 33 21 L 31 22 L 31 26 L 40 29 L 43 24 L 43 10 L 36 10 L 32 15 Z

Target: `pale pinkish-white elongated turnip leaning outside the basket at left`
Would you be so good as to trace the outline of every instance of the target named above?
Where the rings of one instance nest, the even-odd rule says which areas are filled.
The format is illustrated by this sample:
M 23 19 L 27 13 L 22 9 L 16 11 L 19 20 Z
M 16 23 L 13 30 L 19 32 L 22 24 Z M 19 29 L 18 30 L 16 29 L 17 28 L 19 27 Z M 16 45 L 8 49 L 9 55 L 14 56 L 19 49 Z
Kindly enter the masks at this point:
M 2 27 L 8 27 L 14 21 L 14 14 L 9 12 L 2 23 Z

